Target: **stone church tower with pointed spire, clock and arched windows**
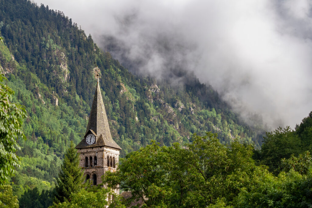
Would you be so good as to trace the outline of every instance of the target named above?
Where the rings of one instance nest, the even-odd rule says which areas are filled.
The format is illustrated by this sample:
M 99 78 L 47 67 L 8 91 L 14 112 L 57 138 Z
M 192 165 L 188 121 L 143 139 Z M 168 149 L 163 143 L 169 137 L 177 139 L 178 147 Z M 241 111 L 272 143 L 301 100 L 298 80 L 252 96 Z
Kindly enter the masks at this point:
M 100 184 L 102 182 L 101 177 L 106 171 L 113 172 L 117 168 L 121 148 L 110 134 L 99 77 L 87 130 L 76 149 L 80 153 L 80 167 L 82 167 L 86 179 L 91 180 L 90 184 Z M 118 190 L 115 192 L 119 194 Z

